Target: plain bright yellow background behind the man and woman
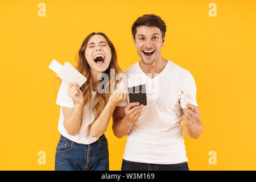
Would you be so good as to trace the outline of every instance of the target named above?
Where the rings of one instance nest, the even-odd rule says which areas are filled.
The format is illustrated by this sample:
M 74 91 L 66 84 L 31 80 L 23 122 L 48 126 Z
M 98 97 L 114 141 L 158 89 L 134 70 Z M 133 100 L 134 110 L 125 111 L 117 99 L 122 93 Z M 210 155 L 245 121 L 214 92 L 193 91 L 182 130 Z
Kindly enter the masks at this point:
M 39 17 L 38 4 L 46 4 Z M 217 17 L 210 17 L 209 3 Z M 167 25 L 162 55 L 188 69 L 197 84 L 204 125 L 184 136 L 191 170 L 255 170 L 256 2 L 247 1 L 0 1 L 0 169 L 53 170 L 60 107 L 52 59 L 74 66 L 90 32 L 104 32 L 125 70 L 139 61 L 131 25 L 156 14 Z M 110 170 L 121 169 L 126 139 L 106 132 Z M 46 164 L 38 164 L 38 152 Z M 210 165 L 209 151 L 217 164 Z

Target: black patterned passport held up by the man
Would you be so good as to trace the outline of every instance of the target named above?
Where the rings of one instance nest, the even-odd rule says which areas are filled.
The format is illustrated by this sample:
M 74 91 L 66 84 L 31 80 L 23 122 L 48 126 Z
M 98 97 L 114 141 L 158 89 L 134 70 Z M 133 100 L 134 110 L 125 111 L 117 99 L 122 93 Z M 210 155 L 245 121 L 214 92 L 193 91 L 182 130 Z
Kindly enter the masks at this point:
M 147 105 L 146 84 L 129 87 L 128 94 L 130 103 L 139 102 L 139 105 Z

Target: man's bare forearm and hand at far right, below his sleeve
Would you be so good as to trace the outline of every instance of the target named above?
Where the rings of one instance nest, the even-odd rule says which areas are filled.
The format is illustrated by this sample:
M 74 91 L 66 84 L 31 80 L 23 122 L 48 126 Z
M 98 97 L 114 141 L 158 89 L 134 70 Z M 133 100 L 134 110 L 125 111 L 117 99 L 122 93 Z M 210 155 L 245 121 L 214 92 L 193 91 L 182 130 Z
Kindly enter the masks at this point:
M 185 133 L 188 137 L 197 139 L 203 131 L 203 124 L 200 119 L 199 108 L 192 104 L 186 104 L 188 108 L 183 110 L 183 124 L 185 125 Z

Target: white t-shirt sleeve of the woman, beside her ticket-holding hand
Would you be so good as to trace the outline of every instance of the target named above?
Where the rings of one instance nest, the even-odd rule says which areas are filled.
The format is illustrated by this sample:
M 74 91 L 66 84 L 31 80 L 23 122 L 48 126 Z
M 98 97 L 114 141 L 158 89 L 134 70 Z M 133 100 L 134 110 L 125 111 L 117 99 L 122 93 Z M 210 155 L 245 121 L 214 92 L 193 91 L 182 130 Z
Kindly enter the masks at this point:
M 75 103 L 71 97 L 68 96 L 68 84 L 61 81 L 59 93 L 57 95 L 56 104 L 64 107 L 75 107 Z

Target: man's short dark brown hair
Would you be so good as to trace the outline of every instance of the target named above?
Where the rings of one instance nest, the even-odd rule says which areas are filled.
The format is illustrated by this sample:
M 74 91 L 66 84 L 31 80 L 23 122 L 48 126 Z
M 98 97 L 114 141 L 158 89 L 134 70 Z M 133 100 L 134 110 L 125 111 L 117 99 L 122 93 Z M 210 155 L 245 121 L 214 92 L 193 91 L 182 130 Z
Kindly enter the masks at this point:
M 158 27 L 162 33 L 162 38 L 166 36 L 166 23 L 160 18 L 160 16 L 154 14 L 143 15 L 139 17 L 131 26 L 131 33 L 135 39 L 137 33 L 137 27 L 148 26 L 148 27 Z

